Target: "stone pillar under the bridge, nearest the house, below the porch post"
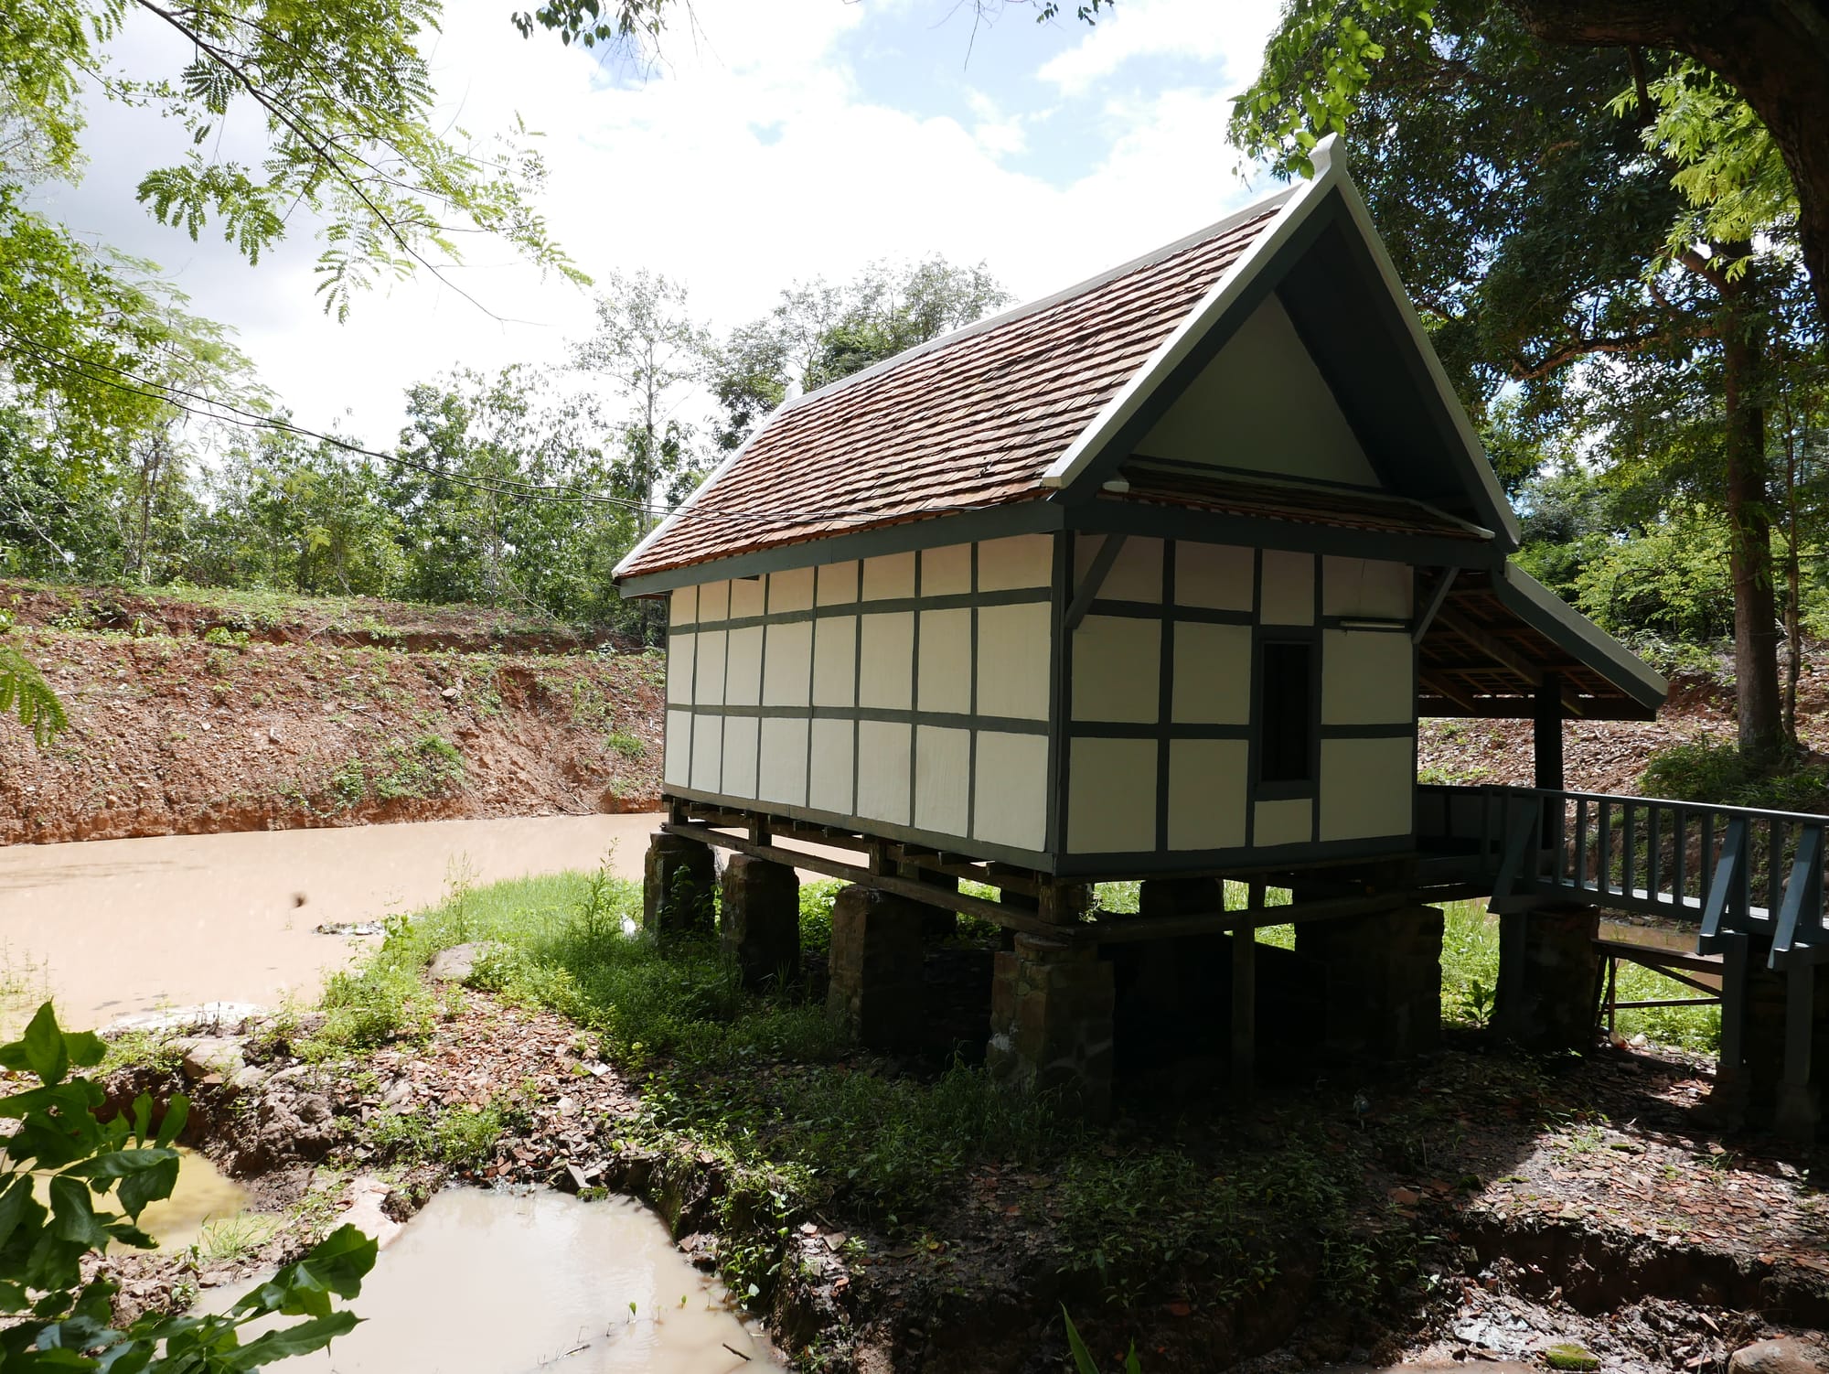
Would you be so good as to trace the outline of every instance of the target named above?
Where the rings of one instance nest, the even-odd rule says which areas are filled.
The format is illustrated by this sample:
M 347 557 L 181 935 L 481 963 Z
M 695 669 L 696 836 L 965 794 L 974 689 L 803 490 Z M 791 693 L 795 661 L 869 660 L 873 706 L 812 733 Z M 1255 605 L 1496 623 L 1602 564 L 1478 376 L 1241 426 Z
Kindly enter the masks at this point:
M 1544 907 L 1500 917 L 1492 1028 L 1531 1050 L 1588 1050 L 1600 999 L 1600 911 Z

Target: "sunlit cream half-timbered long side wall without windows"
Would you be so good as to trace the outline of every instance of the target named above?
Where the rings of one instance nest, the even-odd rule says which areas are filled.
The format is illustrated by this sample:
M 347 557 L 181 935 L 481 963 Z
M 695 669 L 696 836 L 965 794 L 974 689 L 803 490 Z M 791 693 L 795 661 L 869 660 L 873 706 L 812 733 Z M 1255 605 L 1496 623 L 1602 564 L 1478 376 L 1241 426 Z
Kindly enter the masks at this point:
M 1050 536 L 675 591 L 666 785 L 1041 853 L 1052 596 Z

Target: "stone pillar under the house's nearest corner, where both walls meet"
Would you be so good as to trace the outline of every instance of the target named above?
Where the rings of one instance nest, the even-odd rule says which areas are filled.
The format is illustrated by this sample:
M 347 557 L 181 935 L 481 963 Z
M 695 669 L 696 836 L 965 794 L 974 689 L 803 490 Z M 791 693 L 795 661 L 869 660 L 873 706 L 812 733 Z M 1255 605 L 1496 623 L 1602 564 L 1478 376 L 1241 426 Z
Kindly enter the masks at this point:
M 1112 966 L 1097 948 L 1017 935 L 997 955 L 984 1067 L 1021 1092 L 1059 1094 L 1066 1111 L 1112 1112 Z

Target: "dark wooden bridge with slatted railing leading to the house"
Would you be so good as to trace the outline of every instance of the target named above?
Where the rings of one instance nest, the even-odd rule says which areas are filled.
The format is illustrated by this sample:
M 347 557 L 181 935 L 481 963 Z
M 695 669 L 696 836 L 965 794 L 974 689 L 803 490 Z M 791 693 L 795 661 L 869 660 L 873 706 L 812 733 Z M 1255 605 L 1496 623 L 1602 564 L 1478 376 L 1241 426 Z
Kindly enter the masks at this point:
M 1525 911 L 1589 906 L 1697 929 L 1695 953 L 1602 940 L 1705 993 L 1719 986 L 1721 1067 L 1745 1065 L 1749 970 L 1783 979 L 1781 1100 L 1807 1101 L 1829 816 L 1536 787 L 1417 785 L 1419 886 L 1491 896 L 1502 959 Z M 1675 999 L 1674 999 L 1675 1001 Z

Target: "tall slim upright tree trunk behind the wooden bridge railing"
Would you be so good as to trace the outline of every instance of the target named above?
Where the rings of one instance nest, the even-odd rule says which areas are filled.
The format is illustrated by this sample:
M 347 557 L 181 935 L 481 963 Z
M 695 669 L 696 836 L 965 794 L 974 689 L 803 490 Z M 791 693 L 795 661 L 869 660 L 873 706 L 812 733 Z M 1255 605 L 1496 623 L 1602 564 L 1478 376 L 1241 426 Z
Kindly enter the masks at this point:
M 1787 754 L 1778 692 L 1778 600 L 1772 595 L 1772 512 L 1765 461 L 1761 331 L 1747 293 L 1728 296 L 1721 348 L 1727 412 L 1727 523 L 1734 573 L 1734 677 L 1739 697 L 1739 752 L 1754 763 Z

